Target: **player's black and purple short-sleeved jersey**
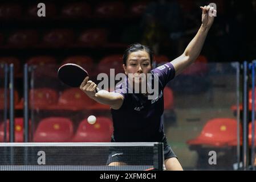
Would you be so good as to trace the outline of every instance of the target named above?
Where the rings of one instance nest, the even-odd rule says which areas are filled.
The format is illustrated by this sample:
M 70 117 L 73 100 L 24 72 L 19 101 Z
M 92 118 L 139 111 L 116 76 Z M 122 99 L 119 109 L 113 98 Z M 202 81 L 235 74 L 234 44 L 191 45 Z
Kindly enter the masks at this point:
M 113 118 L 113 138 L 115 142 L 161 142 L 164 138 L 161 115 L 164 111 L 165 85 L 174 78 L 172 64 L 166 63 L 151 71 L 158 73 L 158 96 L 149 100 L 141 93 L 128 93 L 119 85 L 115 92 L 124 96 L 123 105 L 118 110 L 111 109 Z

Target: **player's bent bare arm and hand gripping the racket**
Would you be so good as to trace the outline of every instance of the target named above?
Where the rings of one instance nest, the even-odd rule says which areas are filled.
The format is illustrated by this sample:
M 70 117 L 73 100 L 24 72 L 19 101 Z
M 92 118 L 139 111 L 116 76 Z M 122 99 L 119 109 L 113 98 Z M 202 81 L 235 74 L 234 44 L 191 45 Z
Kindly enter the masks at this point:
M 96 92 L 97 85 L 89 80 L 89 77 L 84 78 L 80 85 L 80 89 L 100 104 L 111 106 L 112 109 L 119 109 L 123 104 L 124 97 L 120 93 L 108 92 L 107 90 L 99 90 Z

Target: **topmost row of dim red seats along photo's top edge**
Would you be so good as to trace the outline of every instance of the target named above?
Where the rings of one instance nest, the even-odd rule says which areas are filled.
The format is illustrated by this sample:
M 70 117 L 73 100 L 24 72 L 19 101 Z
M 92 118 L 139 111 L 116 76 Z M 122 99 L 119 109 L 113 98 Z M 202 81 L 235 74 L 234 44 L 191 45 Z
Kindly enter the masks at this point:
M 46 17 L 63 17 L 63 18 L 124 18 L 135 17 L 143 14 L 147 7 L 147 1 L 133 2 L 127 5 L 124 2 L 99 2 L 95 7 L 86 2 L 66 3 L 64 6 L 46 2 Z M 0 18 L 2 19 L 19 19 L 22 16 L 38 18 L 38 3 L 23 8 L 18 3 L 6 3 L 0 5 Z M 24 13 L 23 11 L 26 11 Z M 60 13 L 59 13 L 60 12 Z

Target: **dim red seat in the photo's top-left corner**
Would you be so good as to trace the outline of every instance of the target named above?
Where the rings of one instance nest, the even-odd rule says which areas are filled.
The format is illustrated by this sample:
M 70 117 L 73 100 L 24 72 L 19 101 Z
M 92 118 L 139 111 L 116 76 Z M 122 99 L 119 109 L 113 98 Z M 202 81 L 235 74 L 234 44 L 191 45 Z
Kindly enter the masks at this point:
M 21 18 L 22 9 L 18 3 L 2 3 L 0 5 L 0 19 Z

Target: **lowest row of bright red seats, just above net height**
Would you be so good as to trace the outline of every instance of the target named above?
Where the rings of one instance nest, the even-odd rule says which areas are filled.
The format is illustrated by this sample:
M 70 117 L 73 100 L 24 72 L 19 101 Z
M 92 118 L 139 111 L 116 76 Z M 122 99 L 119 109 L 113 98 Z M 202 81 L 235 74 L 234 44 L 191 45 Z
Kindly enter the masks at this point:
M 0 142 L 3 142 L 3 123 L 0 126 Z M 249 144 L 252 130 L 249 124 Z M 74 126 L 70 119 L 63 117 L 44 118 L 39 122 L 34 134 L 34 142 L 110 142 L 113 132 L 109 118 L 97 117 L 94 125 L 83 119 L 74 135 Z M 7 122 L 7 138 L 9 138 L 9 122 Z M 255 131 L 256 132 L 256 127 Z M 241 145 L 242 130 L 240 126 Z M 256 145 L 256 135 L 255 145 Z M 15 119 L 15 142 L 23 142 L 23 118 Z M 190 146 L 208 145 L 215 147 L 237 145 L 237 121 L 231 118 L 215 118 L 206 123 L 200 136 L 187 142 Z

